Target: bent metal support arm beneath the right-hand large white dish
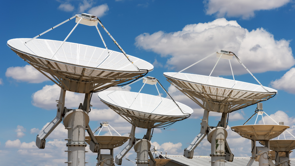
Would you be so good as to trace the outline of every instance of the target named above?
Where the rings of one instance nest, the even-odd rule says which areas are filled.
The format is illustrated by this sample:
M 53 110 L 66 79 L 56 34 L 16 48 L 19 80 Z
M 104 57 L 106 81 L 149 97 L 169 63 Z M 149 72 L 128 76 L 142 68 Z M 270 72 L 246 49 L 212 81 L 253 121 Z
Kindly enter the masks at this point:
M 189 147 L 187 147 L 186 149 L 184 149 L 184 157 L 192 159 L 194 156 L 194 149 L 196 149 L 196 147 L 200 144 L 200 142 L 205 138 L 206 136 L 206 130 L 208 127 L 208 117 L 209 117 L 209 111 L 204 110 L 204 115 L 203 115 L 203 119 L 201 122 L 201 131 L 200 133 L 196 136 L 196 138 L 194 139 L 194 141 L 191 142 L 191 144 L 189 145 Z

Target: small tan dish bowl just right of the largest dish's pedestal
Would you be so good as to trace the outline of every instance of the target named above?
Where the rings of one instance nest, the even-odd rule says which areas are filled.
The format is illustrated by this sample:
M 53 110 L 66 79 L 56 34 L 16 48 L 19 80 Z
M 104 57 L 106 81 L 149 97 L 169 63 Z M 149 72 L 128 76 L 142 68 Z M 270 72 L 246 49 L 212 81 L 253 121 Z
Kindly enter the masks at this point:
M 129 136 L 94 136 L 97 143 L 99 143 L 101 149 L 110 149 L 116 148 L 123 145 L 128 139 Z M 85 139 L 87 144 L 90 145 L 90 136 L 86 136 Z

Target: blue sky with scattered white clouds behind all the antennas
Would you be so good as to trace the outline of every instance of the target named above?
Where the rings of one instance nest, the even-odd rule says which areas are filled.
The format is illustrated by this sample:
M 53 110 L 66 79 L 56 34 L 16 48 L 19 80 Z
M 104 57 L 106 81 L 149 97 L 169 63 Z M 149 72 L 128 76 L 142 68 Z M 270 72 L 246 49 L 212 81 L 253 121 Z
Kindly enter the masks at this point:
M 92 12 L 99 17 L 127 54 L 154 65 L 154 70 L 148 75 L 158 78 L 175 100 L 194 109 L 191 118 L 175 123 L 167 130 L 155 130 L 151 142 L 161 151 L 182 155 L 183 149 L 199 133 L 199 119 L 203 114 L 199 106 L 170 87 L 163 72 L 177 72 L 221 49 L 235 52 L 264 86 L 278 90 L 274 98 L 263 102 L 263 108 L 277 122 L 284 121 L 285 125 L 289 125 L 289 131 L 295 134 L 295 59 L 292 52 L 295 47 L 295 4 L 290 0 L 52 0 L 3 1 L 1 4 L 4 17 L 0 26 L 0 160 L 4 165 L 65 165 L 66 134 L 63 126 L 59 126 L 46 139 L 48 146 L 45 149 L 36 149 L 34 146 L 39 130 L 55 116 L 58 87 L 26 66 L 28 64 L 15 55 L 6 43 L 13 38 L 35 37 L 82 12 Z M 64 40 L 74 26 L 75 22 L 69 21 L 40 38 Z M 119 51 L 107 34 L 102 32 L 102 35 L 110 50 Z M 84 25 L 78 25 L 67 41 L 104 47 L 94 27 Z M 209 75 L 216 61 L 217 58 L 212 56 L 185 72 Z M 257 84 L 235 59 L 232 65 L 236 80 Z M 228 62 L 220 61 L 212 76 L 232 79 Z M 142 83 L 137 82 L 125 90 L 138 92 L 141 86 Z M 148 86 L 142 92 L 153 95 L 158 93 L 154 87 L 150 89 Z M 83 95 L 74 93 L 67 93 L 66 98 L 65 106 L 68 108 L 76 108 L 76 103 L 83 101 Z M 130 124 L 103 105 L 97 95 L 91 101 L 94 108 L 92 115 L 89 115 L 93 130 L 102 121 L 109 121 L 120 134 L 130 132 Z M 255 108 L 249 106 L 231 113 L 229 126 L 242 125 Z M 209 125 L 216 126 L 221 115 L 210 115 Z M 272 123 L 267 117 L 265 119 Z M 254 122 L 251 120 L 248 123 Z M 250 156 L 250 141 L 230 130 L 228 132 L 235 156 Z M 144 134 L 145 130 L 138 129 L 136 137 L 141 138 Z M 288 134 L 286 137 L 293 138 Z M 115 155 L 119 151 L 120 148 L 116 149 Z M 204 139 L 196 148 L 195 155 L 209 155 L 209 151 L 210 145 Z M 87 154 L 88 165 L 96 163 L 95 155 Z M 291 153 L 291 157 L 295 155 Z M 127 158 L 135 159 L 133 148 Z M 126 160 L 122 165 L 129 164 Z

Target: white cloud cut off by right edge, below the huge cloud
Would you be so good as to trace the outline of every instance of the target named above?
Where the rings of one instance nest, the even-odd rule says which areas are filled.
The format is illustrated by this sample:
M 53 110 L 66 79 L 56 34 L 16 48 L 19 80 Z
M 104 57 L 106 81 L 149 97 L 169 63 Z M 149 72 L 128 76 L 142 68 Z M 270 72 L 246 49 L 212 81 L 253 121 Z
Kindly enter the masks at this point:
M 295 68 L 291 68 L 280 79 L 272 81 L 271 87 L 295 94 Z

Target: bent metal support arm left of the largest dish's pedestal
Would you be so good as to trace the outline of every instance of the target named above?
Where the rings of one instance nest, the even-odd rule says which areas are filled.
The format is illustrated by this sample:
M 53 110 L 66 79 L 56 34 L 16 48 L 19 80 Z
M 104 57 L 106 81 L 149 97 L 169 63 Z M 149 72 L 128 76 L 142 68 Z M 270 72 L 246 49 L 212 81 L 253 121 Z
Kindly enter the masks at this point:
M 57 100 L 57 113 L 56 117 L 44 128 L 43 131 L 36 138 L 36 146 L 39 149 L 45 148 L 45 142 L 47 136 L 58 126 L 58 124 L 63 120 L 63 111 L 65 106 L 65 90 L 61 89 L 59 100 Z

